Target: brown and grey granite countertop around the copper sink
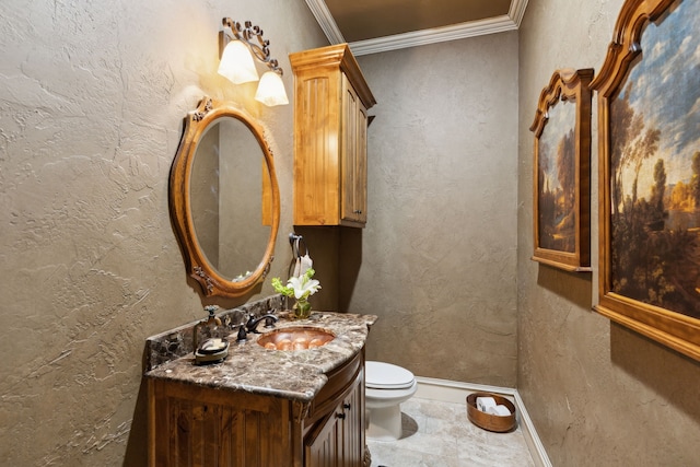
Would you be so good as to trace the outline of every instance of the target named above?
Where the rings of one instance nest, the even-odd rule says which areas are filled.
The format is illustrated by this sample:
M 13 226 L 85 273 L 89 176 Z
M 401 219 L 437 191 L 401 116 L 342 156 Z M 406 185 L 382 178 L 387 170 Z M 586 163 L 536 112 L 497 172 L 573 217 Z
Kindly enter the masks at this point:
M 314 312 L 308 319 L 280 317 L 275 329 L 311 326 L 331 331 L 336 338 L 323 347 L 308 350 L 268 350 L 257 343 L 267 331 L 248 334 L 246 342 L 237 343 L 235 332 L 229 336 L 229 355 L 221 363 L 195 364 L 189 352 L 158 365 L 144 375 L 217 389 L 230 389 L 269 395 L 308 402 L 327 382 L 326 373 L 340 366 L 363 347 L 374 315 Z

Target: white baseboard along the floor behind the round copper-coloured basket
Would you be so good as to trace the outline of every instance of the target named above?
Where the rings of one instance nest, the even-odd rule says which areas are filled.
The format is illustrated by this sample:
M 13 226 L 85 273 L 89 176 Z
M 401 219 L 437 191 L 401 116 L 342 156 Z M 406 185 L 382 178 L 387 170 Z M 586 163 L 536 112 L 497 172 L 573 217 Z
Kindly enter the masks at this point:
M 508 397 L 513 401 L 517 410 L 516 419 L 523 430 L 527 448 L 529 450 L 533 460 L 537 467 L 551 467 L 549 456 L 545 451 L 533 420 L 527 413 L 525 404 L 521 398 L 517 389 L 511 387 L 489 386 L 483 384 L 460 383 L 456 381 L 436 380 L 431 377 L 416 376 L 418 389 L 416 396 L 421 399 L 440 400 L 443 402 L 465 404 L 470 393 L 485 392 L 493 393 L 503 397 Z M 466 410 L 466 409 L 465 409 Z

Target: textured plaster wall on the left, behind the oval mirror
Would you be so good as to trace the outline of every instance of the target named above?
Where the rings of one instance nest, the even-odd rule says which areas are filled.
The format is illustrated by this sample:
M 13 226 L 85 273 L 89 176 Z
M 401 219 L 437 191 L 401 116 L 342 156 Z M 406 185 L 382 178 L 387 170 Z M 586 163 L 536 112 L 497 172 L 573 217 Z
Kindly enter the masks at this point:
M 327 44 L 303 0 L 0 3 L 1 465 L 143 464 L 144 339 L 203 316 L 167 210 L 203 94 L 270 133 L 287 271 L 292 106 L 217 75 L 224 15 L 261 25 L 290 94 L 288 54 Z

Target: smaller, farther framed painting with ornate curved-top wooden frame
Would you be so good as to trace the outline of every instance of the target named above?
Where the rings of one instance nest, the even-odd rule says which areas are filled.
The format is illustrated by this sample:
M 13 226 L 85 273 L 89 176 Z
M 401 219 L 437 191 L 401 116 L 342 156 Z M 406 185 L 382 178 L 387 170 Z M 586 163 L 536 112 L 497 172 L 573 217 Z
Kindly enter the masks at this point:
M 535 132 L 533 259 L 591 271 L 592 69 L 557 70 L 542 89 Z

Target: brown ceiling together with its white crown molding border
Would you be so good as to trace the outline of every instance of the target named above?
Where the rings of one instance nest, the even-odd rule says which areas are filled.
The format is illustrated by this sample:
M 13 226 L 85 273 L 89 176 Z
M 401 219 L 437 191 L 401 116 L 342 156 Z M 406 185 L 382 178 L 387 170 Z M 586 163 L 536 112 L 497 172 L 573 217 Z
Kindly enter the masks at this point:
M 306 0 L 331 44 L 376 54 L 517 30 L 527 0 Z

